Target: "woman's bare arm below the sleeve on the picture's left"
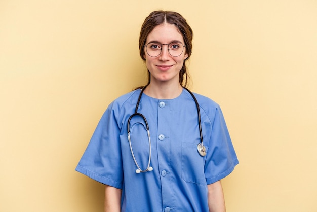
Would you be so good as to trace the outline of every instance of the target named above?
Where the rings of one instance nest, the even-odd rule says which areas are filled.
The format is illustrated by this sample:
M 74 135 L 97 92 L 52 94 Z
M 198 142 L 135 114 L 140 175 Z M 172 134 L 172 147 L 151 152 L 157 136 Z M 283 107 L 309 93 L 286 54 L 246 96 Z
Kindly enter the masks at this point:
M 104 212 L 121 211 L 121 189 L 105 185 Z

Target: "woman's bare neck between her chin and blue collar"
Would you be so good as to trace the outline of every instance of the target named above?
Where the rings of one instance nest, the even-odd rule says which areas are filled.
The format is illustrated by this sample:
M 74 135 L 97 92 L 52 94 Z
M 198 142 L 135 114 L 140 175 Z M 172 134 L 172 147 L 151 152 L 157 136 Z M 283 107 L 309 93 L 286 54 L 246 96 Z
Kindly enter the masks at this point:
M 183 91 L 180 84 L 174 85 L 153 85 L 150 83 L 144 93 L 152 98 L 157 99 L 173 99 L 178 97 Z

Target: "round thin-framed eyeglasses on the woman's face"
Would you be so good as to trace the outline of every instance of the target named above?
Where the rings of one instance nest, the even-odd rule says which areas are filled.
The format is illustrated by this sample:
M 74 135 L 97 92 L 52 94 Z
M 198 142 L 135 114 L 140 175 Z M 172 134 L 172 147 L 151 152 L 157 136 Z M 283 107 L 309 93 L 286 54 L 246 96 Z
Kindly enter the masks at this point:
M 179 55 L 181 55 L 184 51 L 184 47 L 186 46 L 180 42 L 172 42 L 170 44 L 159 44 L 159 43 L 152 42 L 152 43 L 148 43 L 147 45 L 144 45 L 144 47 L 146 49 L 146 53 L 150 57 L 157 57 L 161 54 L 163 45 L 168 46 L 167 50 L 169 51 L 170 55 L 173 57 L 178 57 Z

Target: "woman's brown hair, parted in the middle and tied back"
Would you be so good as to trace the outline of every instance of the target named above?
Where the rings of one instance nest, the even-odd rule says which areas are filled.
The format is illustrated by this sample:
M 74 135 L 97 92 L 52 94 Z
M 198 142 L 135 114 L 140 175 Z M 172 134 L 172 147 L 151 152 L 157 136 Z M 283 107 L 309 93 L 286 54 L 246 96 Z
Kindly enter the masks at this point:
M 158 25 L 163 23 L 169 23 L 174 24 L 178 29 L 179 32 L 182 34 L 184 38 L 184 42 L 186 45 L 186 53 L 188 54 L 188 57 L 184 60 L 183 67 L 180 70 L 179 73 L 179 83 L 183 86 L 187 86 L 187 79 L 189 78 L 189 75 L 186 70 L 185 61 L 190 57 L 191 55 L 191 49 L 192 49 L 192 37 L 193 32 L 188 23 L 186 22 L 185 18 L 181 16 L 179 13 L 172 12 L 172 11 L 153 11 L 150 13 L 148 17 L 143 22 L 143 25 L 141 27 L 140 37 L 139 37 L 139 49 L 140 49 L 140 56 L 143 60 L 144 58 L 144 45 L 146 43 L 146 38 L 148 34 Z M 184 79 L 185 76 L 185 79 Z M 148 81 L 147 84 L 149 84 L 151 81 L 150 72 L 148 71 Z

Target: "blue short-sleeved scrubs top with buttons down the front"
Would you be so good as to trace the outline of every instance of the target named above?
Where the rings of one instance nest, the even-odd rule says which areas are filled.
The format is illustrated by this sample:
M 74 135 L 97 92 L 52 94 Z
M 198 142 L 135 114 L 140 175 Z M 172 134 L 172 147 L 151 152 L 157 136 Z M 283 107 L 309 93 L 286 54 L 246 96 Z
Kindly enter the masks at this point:
M 103 114 L 76 170 L 122 189 L 121 211 L 209 211 L 207 184 L 221 180 L 239 162 L 220 107 L 194 94 L 200 105 L 206 156 L 197 152 L 200 132 L 196 104 L 183 89 L 175 99 L 143 94 L 138 113 L 148 122 L 153 171 L 136 173 L 130 152 L 127 121 L 134 113 L 140 90 L 114 100 Z M 133 152 L 146 169 L 149 143 L 144 121 L 131 119 Z

